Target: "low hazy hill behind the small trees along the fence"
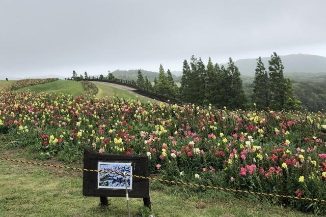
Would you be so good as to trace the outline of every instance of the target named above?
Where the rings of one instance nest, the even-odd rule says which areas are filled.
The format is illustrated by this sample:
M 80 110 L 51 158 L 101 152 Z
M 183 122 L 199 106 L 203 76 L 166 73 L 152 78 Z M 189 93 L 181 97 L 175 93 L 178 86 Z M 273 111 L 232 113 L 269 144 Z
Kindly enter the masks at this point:
M 158 79 L 158 72 L 151 72 L 151 71 L 146 71 L 146 70 L 142 70 L 142 69 L 141 69 L 141 71 L 142 71 L 142 75 L 143 75 L 144 79 L 145 79 L 145 76 L 147 76 L 149 81 L 154 81 L 155 77 Z M 112 74 L 115 78 L 137 81 L 138 69 L 116 70 L 116 71 L 113 71 Z M 106 75 L 104 75 L 104 76 L 106 76 Z M 172 74 L 172 77 L 175 82 L 181 81 L 180 76 L 175 76 Z

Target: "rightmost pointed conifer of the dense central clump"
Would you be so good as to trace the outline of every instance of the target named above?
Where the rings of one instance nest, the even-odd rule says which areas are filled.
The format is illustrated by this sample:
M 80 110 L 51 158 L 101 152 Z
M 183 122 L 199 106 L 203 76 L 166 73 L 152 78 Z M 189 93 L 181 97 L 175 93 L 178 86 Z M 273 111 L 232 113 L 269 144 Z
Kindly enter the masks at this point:
M 231 81 L 228 94 L 228 106 L 230 108 L 244 108 L 246 106 L 246 95 L 242 90 L 242 80 L 238 67 L 235 66 L 232 58 L 229 58 L 227 73 Z

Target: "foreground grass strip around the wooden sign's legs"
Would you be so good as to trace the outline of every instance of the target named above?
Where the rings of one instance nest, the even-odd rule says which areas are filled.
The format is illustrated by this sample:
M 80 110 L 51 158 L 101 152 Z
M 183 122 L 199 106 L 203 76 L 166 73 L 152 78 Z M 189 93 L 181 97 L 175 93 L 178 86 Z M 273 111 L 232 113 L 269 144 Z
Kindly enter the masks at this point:
M 7 139 L 0 135 L 0 156 L 32 160 Z M 82 195 L 82 185 L 82 172 L 0 160 L 0 216 L 127 216 L 125 198 L 109 198 L 110 207 L 101 207 L 99 198 Z M 142 199 L 131 198 L 131 216 L 308 216 L 261 198 L 184 189 L 151 182 L 152 212 Z

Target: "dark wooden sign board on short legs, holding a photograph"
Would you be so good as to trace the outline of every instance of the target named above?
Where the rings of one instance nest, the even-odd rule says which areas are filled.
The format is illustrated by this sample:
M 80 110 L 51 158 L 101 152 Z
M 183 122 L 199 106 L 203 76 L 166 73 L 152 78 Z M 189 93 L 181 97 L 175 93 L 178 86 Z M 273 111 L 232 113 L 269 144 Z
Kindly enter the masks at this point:
M 147 156 L 104 154 L 89 147 L 84 150 L 84 168 L 149 176 Z M 148 179 L 127 176 L 127 190 L 129 197 L 143 198 L 144 205 L 150 208 Z M 100 197 L 103 205 L 107 205 L 106 197 L 126 197 L 124 176 L 84 171 L 83 195 Z

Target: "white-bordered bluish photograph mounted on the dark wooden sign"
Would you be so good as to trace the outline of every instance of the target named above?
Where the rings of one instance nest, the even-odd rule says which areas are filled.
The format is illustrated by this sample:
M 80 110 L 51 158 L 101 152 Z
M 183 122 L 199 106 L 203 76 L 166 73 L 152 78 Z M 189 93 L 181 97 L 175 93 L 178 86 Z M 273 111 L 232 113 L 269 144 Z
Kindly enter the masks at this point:
M 131 163 L 115 163 L 115 162 L 98 162 L 98 170 L 117 172 L 132 175 Z M 127 189 L 132 189 L 132 177 L 127 176 Z M 124 175 L 111 173 L 99 173 L 97 178 L 97 188 L 99 189 L 126 189 Z

